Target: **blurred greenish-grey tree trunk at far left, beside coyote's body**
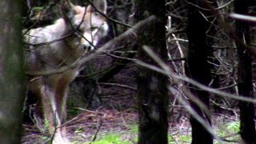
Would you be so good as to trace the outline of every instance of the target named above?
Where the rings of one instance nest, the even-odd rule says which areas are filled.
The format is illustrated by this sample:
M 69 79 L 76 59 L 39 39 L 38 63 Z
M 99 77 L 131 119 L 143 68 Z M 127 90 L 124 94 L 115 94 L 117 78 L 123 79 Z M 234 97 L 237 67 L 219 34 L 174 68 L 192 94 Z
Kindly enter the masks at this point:
M 25 80 L 21 2 L 0 1 L 0 143 L 21 143 Z

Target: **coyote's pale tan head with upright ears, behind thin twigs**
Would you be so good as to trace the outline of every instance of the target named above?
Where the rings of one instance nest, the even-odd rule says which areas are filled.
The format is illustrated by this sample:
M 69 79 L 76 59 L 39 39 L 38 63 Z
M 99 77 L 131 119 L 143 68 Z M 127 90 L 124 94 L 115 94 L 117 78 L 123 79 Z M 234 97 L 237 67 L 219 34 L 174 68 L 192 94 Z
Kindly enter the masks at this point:
M 98 40 L 107 34 L 106 0 L 94 0 L 93 5 L 86 7 L 70 4 L 68 19 L 75 31 L 74 45 L 82 46 L 85 50 L 94 50 Z M 102 14 L 101 14 L 102 13 Z

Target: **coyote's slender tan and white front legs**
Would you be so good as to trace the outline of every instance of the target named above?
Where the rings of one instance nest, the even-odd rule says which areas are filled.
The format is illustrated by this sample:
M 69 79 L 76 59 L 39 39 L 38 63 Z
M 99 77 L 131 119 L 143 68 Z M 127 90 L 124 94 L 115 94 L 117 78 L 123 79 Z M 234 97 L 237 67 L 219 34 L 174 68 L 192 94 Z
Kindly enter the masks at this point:
M 45 85 L 45 93 L 41 97 L 44 119 L 49 125 L 50 134 L 54 140 L 53 143 L 69 143 L 66 138 L 66 128 L 62 126 L 66 118 L 65 91 L 68 87 L 59 89 L 58 82 L 53 84 L 53 79 L 50 79 L 50 81 L 50 84 Z M 62 94 L 58 93 L 59 90 L 62 91 Z

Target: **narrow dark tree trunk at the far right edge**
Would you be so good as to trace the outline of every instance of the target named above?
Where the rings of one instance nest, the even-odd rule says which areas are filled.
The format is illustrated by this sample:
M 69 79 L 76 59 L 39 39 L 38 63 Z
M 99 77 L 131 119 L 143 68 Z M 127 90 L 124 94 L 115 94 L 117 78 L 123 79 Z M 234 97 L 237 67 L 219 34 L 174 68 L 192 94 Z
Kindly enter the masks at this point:
M 248 15 L 249 0 L 234 1 L 234 12 Z M 250 26 L 248 22 L 236 21 L 236 46 L 238 49 L 238 93 L 253 98 L 250 52 Z M 240 134 L 245 143 L 256 143 L 254 124 L 254 104 L 240 102 Z

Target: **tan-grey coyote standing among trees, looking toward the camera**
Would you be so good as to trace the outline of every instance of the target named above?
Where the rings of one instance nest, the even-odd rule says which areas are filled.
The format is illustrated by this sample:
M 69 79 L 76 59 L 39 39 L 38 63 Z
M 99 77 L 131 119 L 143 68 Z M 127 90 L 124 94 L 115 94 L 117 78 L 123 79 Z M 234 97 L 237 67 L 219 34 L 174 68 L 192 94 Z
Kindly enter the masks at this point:
M 87 51 L 94 50 L 98 40 L 106 36 L 106 0 L 94 0 L 94 5 L 74 6 L 67 2 L 67 14 L 53 25 L 26 32 L 26 71 L 58 70 L 70 66 Z M 65 11 L 62 9 L 62 12 Z M 75 66 L 58 74 L 30 76 L 28 88 L 40 98 L 43 117 L 49 123 L 55 143 L 68 142 L 65 126 L 66 97 L 70 82 L 82 66 Z

